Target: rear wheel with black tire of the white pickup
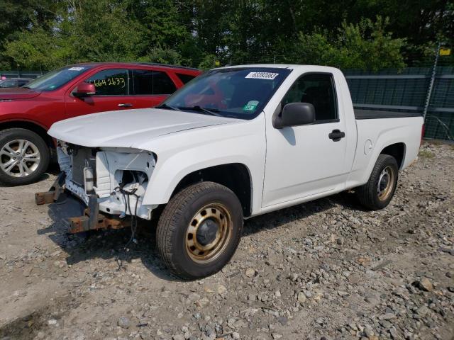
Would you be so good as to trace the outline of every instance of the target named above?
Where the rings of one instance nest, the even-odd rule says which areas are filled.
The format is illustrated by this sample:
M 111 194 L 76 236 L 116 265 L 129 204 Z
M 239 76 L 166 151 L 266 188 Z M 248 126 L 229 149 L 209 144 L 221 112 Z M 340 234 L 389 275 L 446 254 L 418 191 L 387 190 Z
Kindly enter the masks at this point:
M 386 195 L 379 193 L 379 181 L 380 176 L 384 170 L 387 170 L 389 174 L 390 187 L 386 187 Z M 375 163 L 372 174 L 370 174 L 369 181 L 363 186 L 360 186 L 356 190 L 356 194 L 360 203 L 367 209 L 380 210 L 385 208 L 394 196 L 394 192 L 397 188 L 397 179 L 399 177 L 399 167 L 394 157 L 388 154 L 380 154 L 377 162 Z M 382 181 L 383 182 L 383 181 Z M 381 183 L 382 183 L 381 182 Z M 384 184 L 383 184 L 384 186 Z

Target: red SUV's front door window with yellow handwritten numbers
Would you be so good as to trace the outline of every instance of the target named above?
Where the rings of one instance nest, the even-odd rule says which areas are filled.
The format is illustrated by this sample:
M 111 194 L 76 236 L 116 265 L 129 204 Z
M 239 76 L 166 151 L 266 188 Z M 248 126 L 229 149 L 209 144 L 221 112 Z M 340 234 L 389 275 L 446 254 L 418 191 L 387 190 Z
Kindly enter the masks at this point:
M 127 69 L 104 69 L 86 81 L 94 84 L 96 96 L 126 96 L 128 94 Z

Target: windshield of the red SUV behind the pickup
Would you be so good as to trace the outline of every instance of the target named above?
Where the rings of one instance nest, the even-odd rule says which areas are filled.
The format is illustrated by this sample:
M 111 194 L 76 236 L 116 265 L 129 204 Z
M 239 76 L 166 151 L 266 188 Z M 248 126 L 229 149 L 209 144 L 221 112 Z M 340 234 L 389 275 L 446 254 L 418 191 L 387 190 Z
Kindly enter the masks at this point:
M 43 76 L 31 81 L 23 87 L 37 91 L 52 91 L 65 85 L 68 81 L 74 79 L 79 74 L 86 72 L 89 68 L 90 67 L 88 66 L 72 66 L 55 69 L 54 71 L 46 73 Z

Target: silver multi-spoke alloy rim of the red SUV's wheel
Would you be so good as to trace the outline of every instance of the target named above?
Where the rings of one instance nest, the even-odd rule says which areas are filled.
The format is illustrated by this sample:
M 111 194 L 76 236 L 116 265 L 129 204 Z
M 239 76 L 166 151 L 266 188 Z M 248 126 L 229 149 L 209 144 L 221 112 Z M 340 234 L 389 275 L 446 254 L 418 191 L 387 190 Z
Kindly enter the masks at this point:
M 10 140 L 0 149 L 0 168 L 9 176 L 30 176 L 39 164 L 40 151 L 29 140 Z

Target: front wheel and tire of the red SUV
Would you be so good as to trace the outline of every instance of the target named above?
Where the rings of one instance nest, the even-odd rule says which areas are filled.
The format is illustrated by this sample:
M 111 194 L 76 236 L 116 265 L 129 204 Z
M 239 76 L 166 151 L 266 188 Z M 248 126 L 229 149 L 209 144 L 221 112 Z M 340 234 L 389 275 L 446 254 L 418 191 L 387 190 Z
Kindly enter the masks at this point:
M 0 132 L 0 182 L 20 186 L 37 181 L 49 165 L 49 148 L 43 138 L 26 129 Z

